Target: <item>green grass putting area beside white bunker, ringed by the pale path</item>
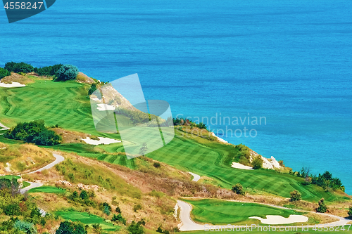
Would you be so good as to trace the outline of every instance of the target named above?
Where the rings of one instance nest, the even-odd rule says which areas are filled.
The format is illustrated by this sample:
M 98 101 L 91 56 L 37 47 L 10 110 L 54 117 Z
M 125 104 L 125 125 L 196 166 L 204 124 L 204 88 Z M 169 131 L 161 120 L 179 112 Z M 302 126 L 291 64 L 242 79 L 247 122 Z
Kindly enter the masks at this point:
M 288 218 L 291 214 L 302 214 L 291 209 L 279 209 L 264 204 L 246 202 L 227 202 L 222 200 L 203 199 L 185 200 L 192 204 L 191 216 L 199 223 L 219 224 L 259 224 L 257 219 L 249 219 L 251 216 L 259 216 L 265 219 L 266 215 L 280 215 Z

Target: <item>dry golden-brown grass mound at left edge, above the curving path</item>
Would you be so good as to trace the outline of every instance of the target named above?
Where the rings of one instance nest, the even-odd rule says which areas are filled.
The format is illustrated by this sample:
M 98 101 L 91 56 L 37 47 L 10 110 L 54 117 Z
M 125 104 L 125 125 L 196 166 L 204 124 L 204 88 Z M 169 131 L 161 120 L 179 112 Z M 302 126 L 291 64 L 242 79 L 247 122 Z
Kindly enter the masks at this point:
M 51 152 L 32 144 L 8 145 L 0 149 L 0 158 L 0 174 L 32 171 L 55 160 Z M 6 162 L 11 164 L 11 171 L 6 171 Z

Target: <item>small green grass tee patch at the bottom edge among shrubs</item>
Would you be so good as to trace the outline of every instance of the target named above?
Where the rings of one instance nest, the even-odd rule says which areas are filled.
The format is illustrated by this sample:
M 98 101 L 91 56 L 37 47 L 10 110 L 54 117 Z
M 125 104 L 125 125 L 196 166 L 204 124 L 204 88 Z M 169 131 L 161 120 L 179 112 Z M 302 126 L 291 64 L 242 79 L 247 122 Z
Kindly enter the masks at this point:
M 84 224 L 91 225 L 99 223 L 103 230 L 116 231 L 120 229 L 120 226 L 113 225 L 113 223 L 107 223 L 103 218 L 96 216 L 94 214 L 88 214 L 86 212 L 76 212 L 74 210 L 58 211 L 55 212 L 56 215 L 61 216 L 65 220 L 70 221 L 80 221 Z

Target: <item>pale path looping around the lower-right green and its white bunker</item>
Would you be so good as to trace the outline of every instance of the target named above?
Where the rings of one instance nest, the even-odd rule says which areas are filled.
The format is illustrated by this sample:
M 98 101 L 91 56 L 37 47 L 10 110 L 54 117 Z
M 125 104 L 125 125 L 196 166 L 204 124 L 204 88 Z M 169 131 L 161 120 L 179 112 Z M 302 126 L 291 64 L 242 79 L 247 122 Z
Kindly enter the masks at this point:
M 187 197 L 187 198 L 201 198 L 201 197 Z M 237 201 L 231 201 L 231 202 L 237 202 Z M 250 202 L 250 203 L 263 204 L 263 203 L 259 203 L 259 202 Z M 206 223 L 199 224 L 199 223 L 194 222 L 191 219 L 191 209 L 192 209 L 191 204 L 189 204 L 187 202 L 184 202 L 184 201 L 181 201 L 181 200 L 177 200 L 177 204 L 180 207 L 180 221 L 182 222 L 181 223 L 182 225 L 179 227 L 180 230 L 182 230 L 182 231 L 204 230 L 204 225 Z M 273 204 L 266 204 L 266 205 L 268 205 L 270 207 L 280 208 L 280 209 L 289 209 L 287 207 L 279 207 L 279 206 L 276 206 L 276 205 L 273 205 Z M 304 211 L 304 210 L 301 210 L 301 209 L 291 209 L 291 210 L 295 210 L 295 211 L 298 211 L 298 212 L 308 212 L 308 211 Z M 309 212 L 309 213 L 316 214 L 316 212 Z M 318 224 L 318 226 L 322 226 L 322 225 L 325 225 L 325 226 L 344 226 L 348 222 L 351 221 L 351 219 L 345 219 L 343 217 L 336 216 L 336 215 L 333 215 L 333 214 L 322 214 L 322 215 L 330 216 L 330 217 L 339 219 L 339 221 L 334 221 L 334 222 L 331 222 L 331 223 Z M 213 225 L 210 225 L 210 226 L 213 226 Z M 271 225 L 271 226 L 280 226 L 280 225 Z M 315 227 L 315 225 L 308 225 L 308 226 L 309 226 L 309 228 L 314 228 Z M 235 227 L 245 227 L 245 226 L 235 226 Z M 293 226 L 291 226 L 291 227 L 293 227 Z M 301 228 L 302 226 L 294 226 L 294 227 Z

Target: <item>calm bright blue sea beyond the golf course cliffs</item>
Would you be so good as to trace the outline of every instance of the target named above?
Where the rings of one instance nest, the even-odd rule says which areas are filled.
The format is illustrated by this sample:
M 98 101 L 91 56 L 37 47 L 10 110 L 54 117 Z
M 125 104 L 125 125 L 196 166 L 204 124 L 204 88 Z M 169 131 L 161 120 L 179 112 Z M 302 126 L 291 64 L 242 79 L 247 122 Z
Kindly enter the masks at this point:
M 351 15 L 349 0 L 56 1 L 13 24 L 0 10 L 0 66 L 70 63 L 103 81 L 137 72 L 175 116 L 265 117 L 227 126 L 255 138 L 225 140 L 329 170 L 352 194 Z

